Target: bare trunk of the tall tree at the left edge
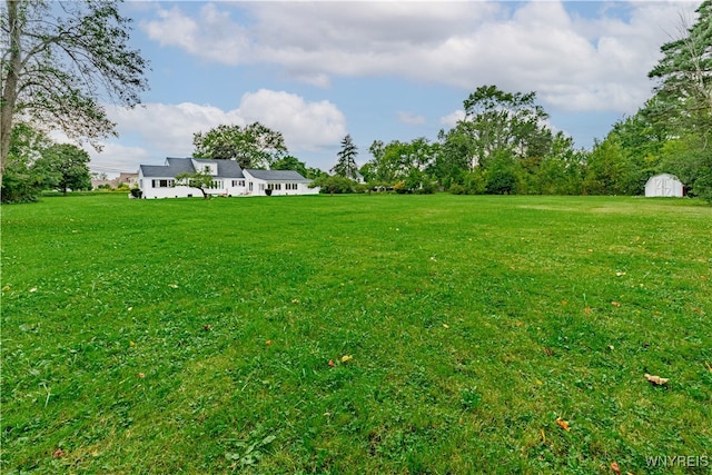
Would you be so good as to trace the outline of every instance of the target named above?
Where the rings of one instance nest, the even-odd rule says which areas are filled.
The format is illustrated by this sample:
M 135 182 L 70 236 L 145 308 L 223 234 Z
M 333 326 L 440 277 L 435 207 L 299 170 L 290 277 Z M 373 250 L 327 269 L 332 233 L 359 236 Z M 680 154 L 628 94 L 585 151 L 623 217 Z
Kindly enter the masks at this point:
M 14 105 L 18 99 L 18 81 L 21 68 L 22 48 L 20 44 L 21 22 L 18 17 L 18 1 L 7 0 L 8 28 L 10 29 L 10 60 L 4 85 L 2 85 L 2 100 L 0 101 L 0 186 L 10 152 L 10 138 L 12 137 L 12 118 Z

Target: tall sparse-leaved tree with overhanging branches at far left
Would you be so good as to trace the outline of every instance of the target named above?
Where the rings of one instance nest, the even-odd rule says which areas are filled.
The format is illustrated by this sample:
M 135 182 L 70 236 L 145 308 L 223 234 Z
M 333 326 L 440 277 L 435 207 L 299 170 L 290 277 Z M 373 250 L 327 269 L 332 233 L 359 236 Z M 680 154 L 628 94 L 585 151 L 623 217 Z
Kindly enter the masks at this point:
M 148 67 L 129 47 L 130 20 L 116 1 L 3 3 L 0 180 L 19 117 L 99 147 L 97 139 L 116 133 L 101 102 L 139 103 Z

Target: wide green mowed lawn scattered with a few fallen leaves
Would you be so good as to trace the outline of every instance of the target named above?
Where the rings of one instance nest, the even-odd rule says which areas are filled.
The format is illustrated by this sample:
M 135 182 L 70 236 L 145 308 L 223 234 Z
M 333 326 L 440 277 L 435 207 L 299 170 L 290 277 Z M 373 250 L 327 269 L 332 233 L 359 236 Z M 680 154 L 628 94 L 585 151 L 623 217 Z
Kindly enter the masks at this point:
M 646 457 L 712 464 L 711 240 L 686 199 L 2 207 L 0 471 L 709 473 Z

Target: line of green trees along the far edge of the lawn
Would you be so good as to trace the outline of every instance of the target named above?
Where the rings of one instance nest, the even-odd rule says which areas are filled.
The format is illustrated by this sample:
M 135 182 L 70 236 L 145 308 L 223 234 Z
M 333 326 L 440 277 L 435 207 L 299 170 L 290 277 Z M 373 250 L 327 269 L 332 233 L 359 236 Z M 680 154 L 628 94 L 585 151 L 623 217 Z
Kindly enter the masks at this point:
M 60 6 L 56 14 L 50 3 L 6 0 L 0 17 L 8 39 L 0 103 L 3 202 L 30 200 L 47 188 L 87 186 L 88 155 L 52 144 L 38 123 L 51 121 L 69 137 L 96 140 L 115 132 L 96 86 L 128 107 L 147 88 L 148 62 L 128 47 L 130 20 L 119 16 L 116 2 Z M 650 176 L 666 171 L 690 195 L 712 202 L 712 0 L 696 12 L 694 24 L 661 48 L 663 58 L 649 75 L 653 96 L 591 150 L 551 130 L 536 92 L 485 85 L 463 101 L 465 116 L 435 141 L 375 140 L 362 167 L 350 135 L 329 174 L 291 156 L 281 133 L 259 122 L 199 131 L 192 156 L 296 170 L 326 192 L 640 195 Z M 199 175 L 184 178 L 198 182 Z

